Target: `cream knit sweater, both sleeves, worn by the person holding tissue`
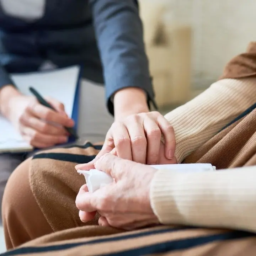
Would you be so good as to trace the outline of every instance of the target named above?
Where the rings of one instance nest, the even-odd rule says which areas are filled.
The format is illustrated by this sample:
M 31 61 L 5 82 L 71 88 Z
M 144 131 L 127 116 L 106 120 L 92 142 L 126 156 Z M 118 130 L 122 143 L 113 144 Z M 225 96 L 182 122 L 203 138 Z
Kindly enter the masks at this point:
M 256 78 L 223 79 L 166 114 L 175 130 L 178 162 L 255 102 Z M 256 166 L 198 173 L 159 170 L 150 201 L 163 224 L 256 232 Z

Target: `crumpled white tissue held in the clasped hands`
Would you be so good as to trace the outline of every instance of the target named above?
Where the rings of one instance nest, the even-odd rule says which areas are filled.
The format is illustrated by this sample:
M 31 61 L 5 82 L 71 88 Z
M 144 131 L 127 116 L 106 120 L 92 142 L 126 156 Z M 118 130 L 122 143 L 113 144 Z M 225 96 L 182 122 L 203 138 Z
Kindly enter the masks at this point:
M 214 171 L 216 170 L 215 166 L 211 164 L 172 164 L 172 165 L 151 165 L 156 169 L 168 169 L 176 171 L 185 171 L 185 172 L 201 172 L 201 171 Z M 112 183 L 113 178 L 106 174 L 106 172 L 99 171 L 97 169 L 92 169 L 90 171 L 78 170 L 79 174 L 85 176 L 85 181 L 88 187 L 89 192 L 94 192 L 106 186 L 107 184 Z

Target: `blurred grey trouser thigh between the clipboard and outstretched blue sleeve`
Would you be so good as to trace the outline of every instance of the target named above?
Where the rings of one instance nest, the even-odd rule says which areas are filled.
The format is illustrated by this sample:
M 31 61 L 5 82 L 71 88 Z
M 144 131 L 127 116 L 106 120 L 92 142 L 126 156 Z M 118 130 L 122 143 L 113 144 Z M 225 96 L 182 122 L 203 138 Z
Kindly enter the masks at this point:
M 92 81 L 82 80 L 79 91 L 80 138 L 92 143 L 104 141 L 113 121 L 106 107 L 105 87 Z

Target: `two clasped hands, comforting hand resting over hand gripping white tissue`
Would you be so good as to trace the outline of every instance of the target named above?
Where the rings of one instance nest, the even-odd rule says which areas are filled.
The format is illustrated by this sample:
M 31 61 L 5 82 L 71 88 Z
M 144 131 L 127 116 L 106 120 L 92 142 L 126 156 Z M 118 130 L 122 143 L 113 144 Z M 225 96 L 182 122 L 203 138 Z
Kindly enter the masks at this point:
M 166 145 L 161 143 L 161 133 Z M 114 179 L 94 193 L 89 193 L 86 185 L 80 188 L 76 198 L 80 219 L 87 222 L 97 211 L 102 226 L 135 229 L 158 224 L 149 196 L 157 170 L 149 165 L 176 164 L 175 146 L 174 129 L 158 112 L 135 114 L 113 123 L 97 157 L 76 166 L 105 171 Z

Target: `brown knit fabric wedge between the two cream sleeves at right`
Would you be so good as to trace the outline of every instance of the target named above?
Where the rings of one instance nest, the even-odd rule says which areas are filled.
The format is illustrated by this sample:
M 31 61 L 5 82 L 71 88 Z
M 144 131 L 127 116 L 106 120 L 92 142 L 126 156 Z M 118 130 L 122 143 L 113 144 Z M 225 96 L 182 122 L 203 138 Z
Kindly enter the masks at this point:
M 256 165 L 256 110 L 219 132 L 183 163 L 211 163 L 217 169 Z

